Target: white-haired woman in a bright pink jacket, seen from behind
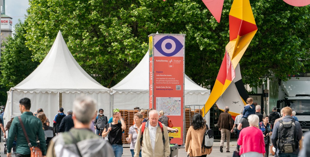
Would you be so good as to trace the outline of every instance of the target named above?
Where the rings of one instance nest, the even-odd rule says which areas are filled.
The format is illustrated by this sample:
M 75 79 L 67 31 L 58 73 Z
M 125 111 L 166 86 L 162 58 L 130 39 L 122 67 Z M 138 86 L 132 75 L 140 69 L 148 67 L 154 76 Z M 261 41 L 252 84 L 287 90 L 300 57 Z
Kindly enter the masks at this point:
M 241 130 L 237 141 L 237 144 L 241 146 L 239 154 L 241 157 L 263 157 L 266 150 L 263 133 L 257 128 L 259 118 L 256 114 L 251 114 L 248 121 L 250 127 Z

